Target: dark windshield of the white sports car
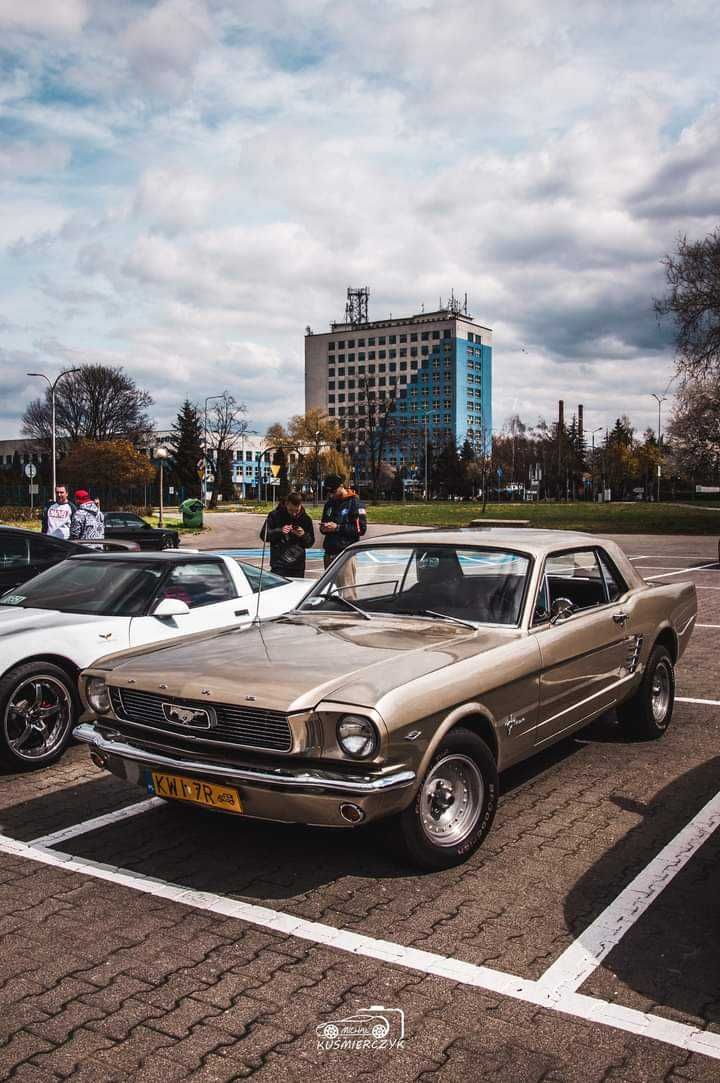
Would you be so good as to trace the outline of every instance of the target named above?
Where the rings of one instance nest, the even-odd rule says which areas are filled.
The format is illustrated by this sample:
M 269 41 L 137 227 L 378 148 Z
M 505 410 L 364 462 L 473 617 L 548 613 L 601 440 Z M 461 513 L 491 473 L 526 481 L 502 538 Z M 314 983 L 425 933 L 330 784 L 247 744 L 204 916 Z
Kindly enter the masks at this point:
M 0 598 L 0 605 L 140 616 L 146 612 L 165 566 L 138 561 L 64 560 Z

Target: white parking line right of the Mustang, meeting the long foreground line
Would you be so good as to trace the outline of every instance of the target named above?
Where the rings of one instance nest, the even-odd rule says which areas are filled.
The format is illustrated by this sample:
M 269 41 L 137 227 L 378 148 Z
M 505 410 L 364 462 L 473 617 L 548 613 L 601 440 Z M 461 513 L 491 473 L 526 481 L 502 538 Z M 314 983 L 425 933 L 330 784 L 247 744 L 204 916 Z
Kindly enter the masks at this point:
M 697 701 L 694 701 L 697 702 Z M 575 992 L 720 825 L 720 793 L 693 817 L 539 979 L 544 989 Z M 718 1035 L 720 1039 L 720 1034 Z

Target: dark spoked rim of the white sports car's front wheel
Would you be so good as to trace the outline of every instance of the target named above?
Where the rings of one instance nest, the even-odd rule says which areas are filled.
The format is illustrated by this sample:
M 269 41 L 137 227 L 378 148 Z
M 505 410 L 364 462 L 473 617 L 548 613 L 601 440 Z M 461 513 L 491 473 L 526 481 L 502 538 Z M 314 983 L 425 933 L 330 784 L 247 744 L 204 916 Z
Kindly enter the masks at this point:
M 73 701 L 65 684 L 37 674 L 15 688 L 3 717 L 8 747 L 19 759 L 41 760 L 61 744 L 73 721 Z

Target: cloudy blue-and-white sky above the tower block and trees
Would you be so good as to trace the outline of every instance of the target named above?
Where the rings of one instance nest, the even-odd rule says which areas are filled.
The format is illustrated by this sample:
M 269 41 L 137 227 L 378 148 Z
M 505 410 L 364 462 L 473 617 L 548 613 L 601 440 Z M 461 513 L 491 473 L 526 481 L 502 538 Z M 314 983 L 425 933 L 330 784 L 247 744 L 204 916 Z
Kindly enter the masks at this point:
M 663 256 L 720 221 L 706 0 L 0 0 L 0 438 L 122 365 L 165 428 L 303 409 L 304 329 L 455 290 L 494 425 L 657 423 Z M 670 387 L 669 394 L 672 388 Z M 666 412 L 671 403 L 666 404 Z

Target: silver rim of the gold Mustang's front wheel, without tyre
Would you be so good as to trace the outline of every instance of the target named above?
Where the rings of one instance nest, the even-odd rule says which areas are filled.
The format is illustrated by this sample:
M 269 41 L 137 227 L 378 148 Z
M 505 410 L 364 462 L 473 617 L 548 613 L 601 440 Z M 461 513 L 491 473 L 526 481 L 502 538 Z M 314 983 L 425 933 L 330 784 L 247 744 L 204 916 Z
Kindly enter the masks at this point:
M 420 821 L 435 846 L 459 846 L 477 825 L 485 796 L 480 768 L 469 756 L 445 756 L 431 767 L 420 792 Z

